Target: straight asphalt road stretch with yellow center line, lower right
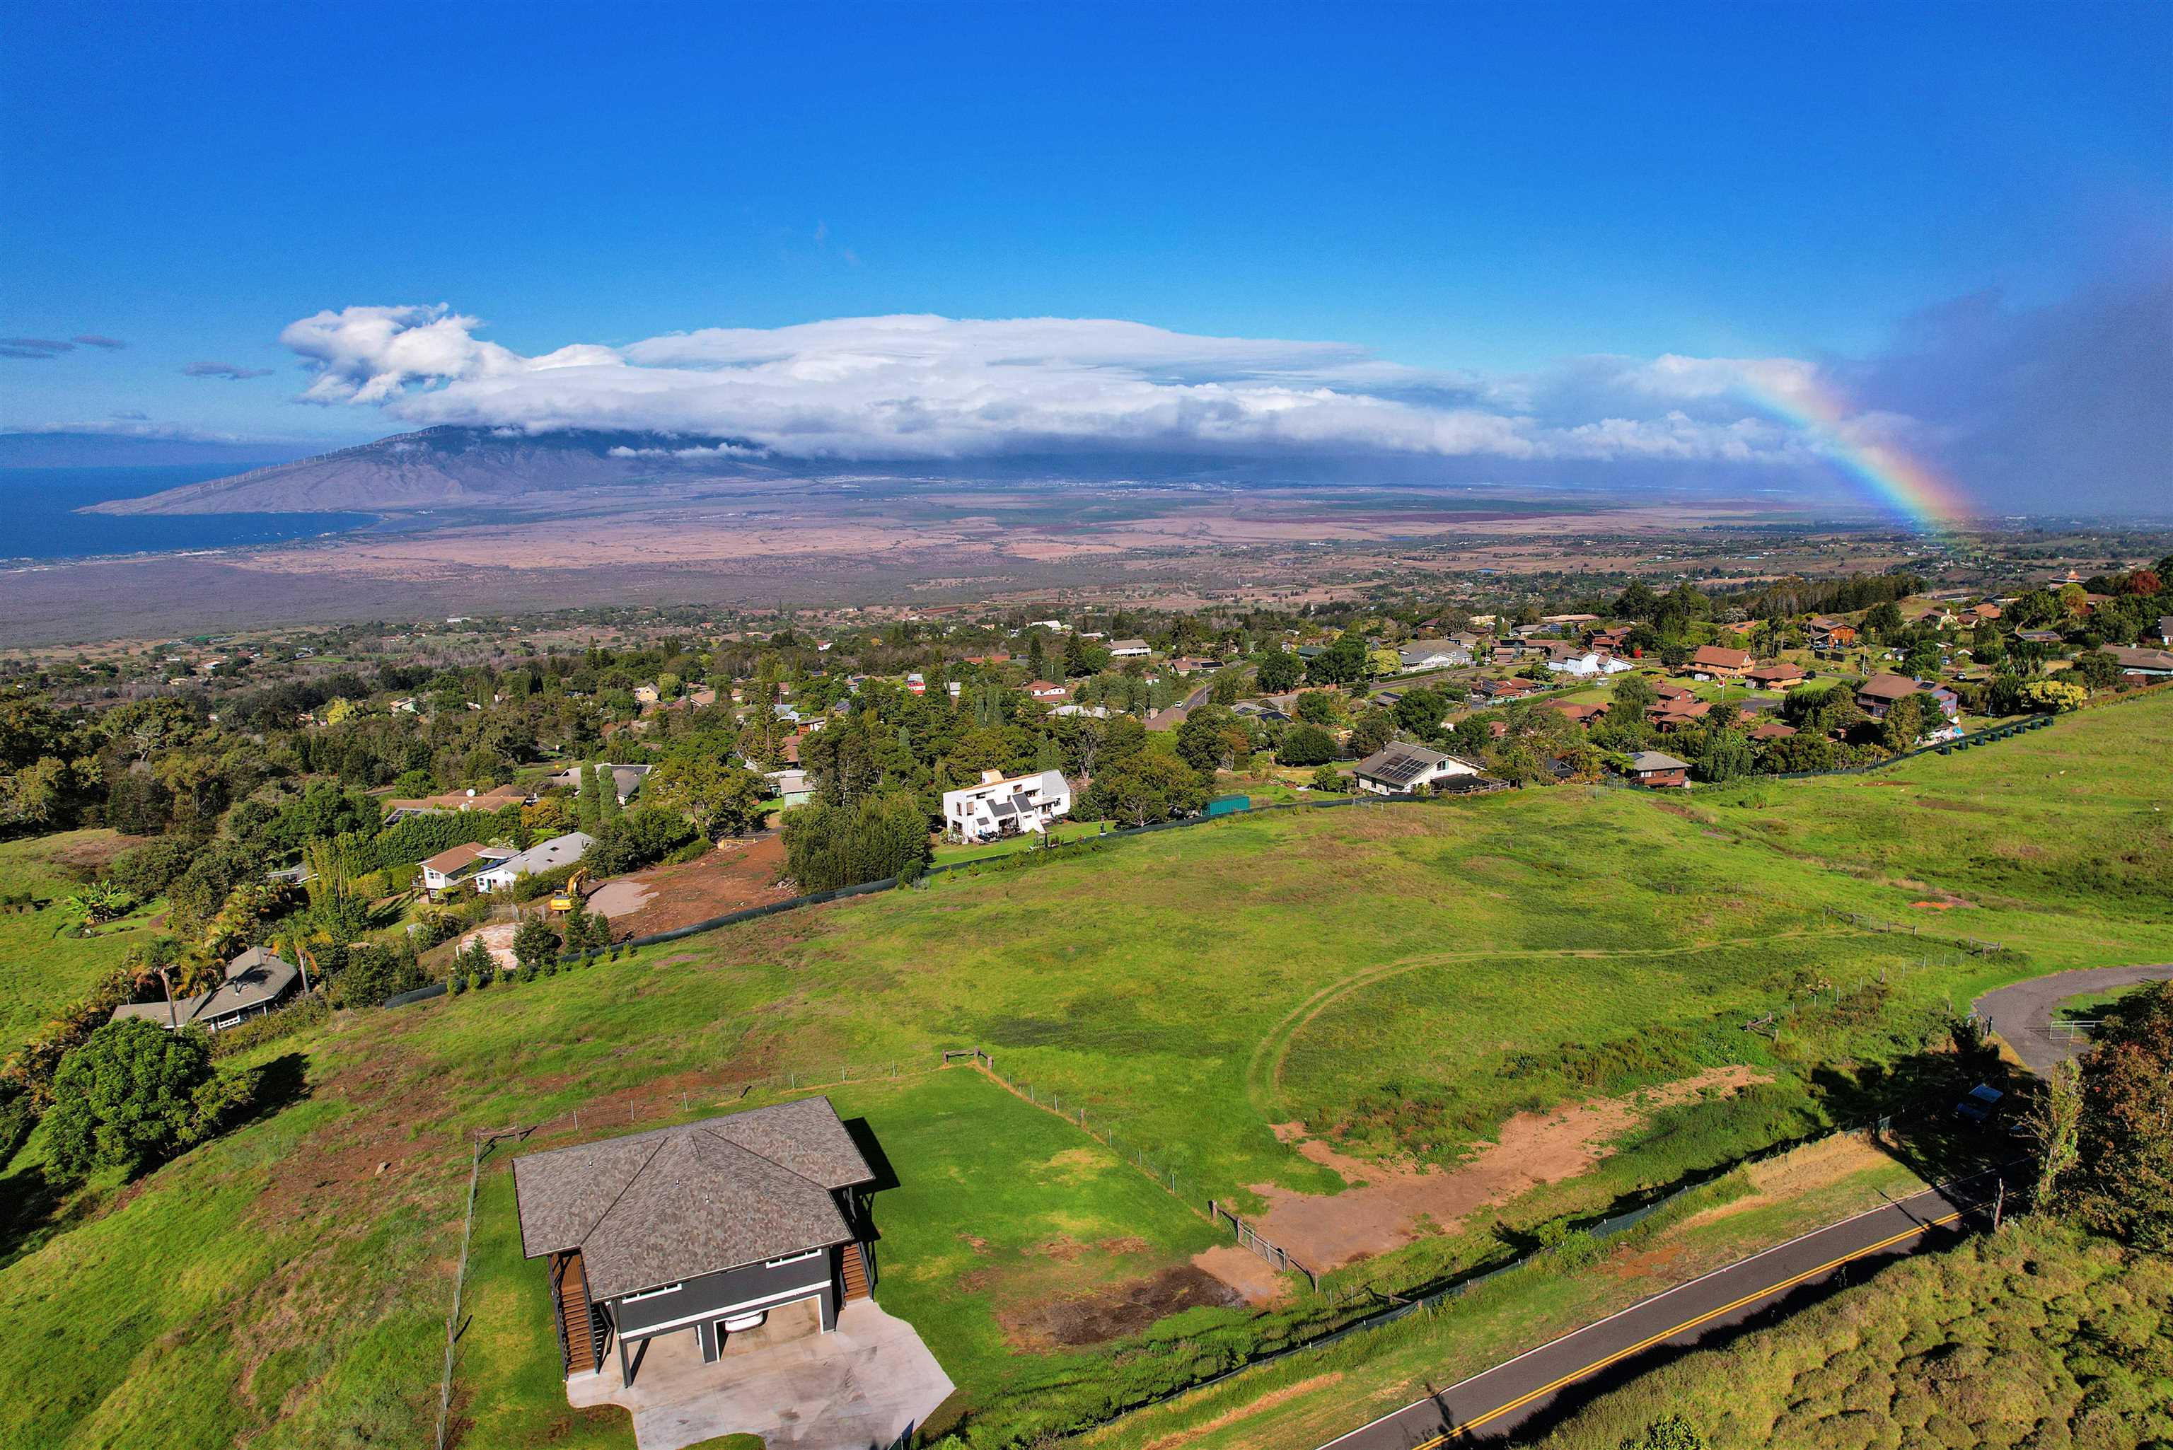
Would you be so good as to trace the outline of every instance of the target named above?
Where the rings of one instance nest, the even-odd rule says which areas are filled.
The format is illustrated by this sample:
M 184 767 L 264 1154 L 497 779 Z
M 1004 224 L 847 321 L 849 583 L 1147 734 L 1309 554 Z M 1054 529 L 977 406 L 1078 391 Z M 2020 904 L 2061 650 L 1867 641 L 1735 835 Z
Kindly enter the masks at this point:
M 1823 1283 L 1843 1265 L 1908 1254 L 1951 1237 L 1964 1215 L 1990 1215 L 1995 1183 L 1990 1174 L 1949 1183 L 1769 1248 L 1473 1374 L 1328 1446 L 1432 1450 L 1506 1437 L 1578 1380 L 1619 1365 L 1649 1367 L 1634 1361 L 1695 1346 L 1804 1285 Z

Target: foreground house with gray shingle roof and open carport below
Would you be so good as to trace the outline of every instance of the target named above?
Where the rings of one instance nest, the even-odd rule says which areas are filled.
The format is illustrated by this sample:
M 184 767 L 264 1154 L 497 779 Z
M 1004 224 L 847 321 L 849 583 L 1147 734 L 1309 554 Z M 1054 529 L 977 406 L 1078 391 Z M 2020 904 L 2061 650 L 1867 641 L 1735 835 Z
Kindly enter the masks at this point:
M 834 1330 L 874 1285 L 874 1180 L 828 1098 L 515 1159 L 522 1257 L 550 1259 L 565 1372 L 602 1370 L 617 1341 L 630 1385 L 632 1352 L 680 1330 L 715 1363 L 800 1302 Z

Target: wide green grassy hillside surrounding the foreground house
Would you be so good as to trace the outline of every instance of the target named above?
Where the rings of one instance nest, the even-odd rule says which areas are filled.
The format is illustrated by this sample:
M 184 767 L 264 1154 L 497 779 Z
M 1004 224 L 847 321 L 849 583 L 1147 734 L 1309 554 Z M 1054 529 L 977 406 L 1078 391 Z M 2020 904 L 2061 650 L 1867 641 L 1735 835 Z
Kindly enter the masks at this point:
M 2121 874 L 2164 880 L 2173 861 L 2158 811 L 2173 800 L 2151 796 L 2173 791 L 2169 754 L 2173 700 L 2151 700 L 1921 761 L 1891 772 L 1897 785 L 1688 800 L 1554 789 L 1236 817 L 343 1015 L 252 1054 L 289 1061 L 298 1102 L 137 1187 L 48 1185 L 35 1137 L 9 1165 L 0 1198 L 30 1211 L 0 1243 L 0 1322 L 15 1330 L 0 1339 L 0 1443 L 141 1443 L 152 1426 L 169 1446 L 422 1443 L 469 1135 L 574 1109 L 595 1137 L 719 1111 L 741 1100 L 728 1083 L 910 1070 L 980 1043 L 1006 1074 L 1154 1150 L 1186 1200 L 1252 1202 L 1254 1185 L 1341 1185 L 1276 1137 L 1291 1120 L 1360 1157 L 1449 1161 L 1519 1107 L 1723 1061 L 1773 1078 L 1669 1109 L 1597 1172 L 1502 1209 L 1508 1239 L 1469 1224 L 1334 1283 L 1393 1289 L 1482 1263 L 1547 1217 L 1854 1115 L 1888 1067 L 1943 1052 L 1949 996 L 2173 959 L 2173 922 Z M 2008 950 L 1964 957 L 1947 946 L 1960 937 Z M 1743 1030 L 1758 1013 L 1782 1013 L 1778 1041 Z M 943 1087 L 854 1083 L 839 1102 L 878 1126 L 904 1180 L 876 1202 L 902 1235 L 884 1250 L 884 1300 L 930 1335 L 982 1424 L 1023 1435 L 1037 1413 L 1082 1415 L 1167 1354 L 1136 1354 L 1130 1333 L 1067 1348 L 1006 1309 L 1004 1276 L 984 1270 L 1028 1263 L 1028 1241 L 1002 1228 L 1019 1202 L 1084 1220 L 1060 1230 L 1093 1250 L 1067 1270 L 1076 1298 L 1180 1265 L 1199 1220 L 1145 1178 L 1108 1178 L 1093 1139 L 1058 1120 L 1023 1107 L 1013 1122 L 1017 1100 L 987 1080 L 974 1087 L 993 1107 L 947 1130 L 958 1080 L 965 1070 Z M 1056 1163 L 1069 1152 L 1086 1157 Z M 950 1170 L 984 1187 L 924 1189 Z M 476 1309 L 461 1359 L 472 1443 L 630 1443 L 624 1420 L 552 1428 L 563 1402 L 535 1361 L 539 1339 L 550 1348 L 532 1322 L 541 1270 L 504 1257 L 506 1209 L 487 1178 L 474 1287 L 498 1309 Z M 1117 1220 L 1134 1226 L 1108 1233 Z M 1176 1324 L 1204 1352 L 1243 1324 L 1263 1341 L 1291 1326 L 1291 1311 L 1186 1313 L 1210 1315 L 1213 1333 L 1182 1317 L 1152 1333 Z M 1506 1313 L 1502 1333 L 1534 1322 Z M 1365 1352 L 1352 1354 L 1339 1374 L 1362 1378 Z

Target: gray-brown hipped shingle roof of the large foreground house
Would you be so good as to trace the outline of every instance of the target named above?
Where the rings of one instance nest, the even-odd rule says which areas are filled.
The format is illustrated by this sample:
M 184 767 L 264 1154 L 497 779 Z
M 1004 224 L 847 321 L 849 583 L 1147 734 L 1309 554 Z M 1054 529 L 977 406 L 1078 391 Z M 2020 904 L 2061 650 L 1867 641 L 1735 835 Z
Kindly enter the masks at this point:
M 830 1191 L 874 1176 L 828 1098 L 513 1161 L 522 1252 L 580 1248 L 598 1298 L 843 1243 Z

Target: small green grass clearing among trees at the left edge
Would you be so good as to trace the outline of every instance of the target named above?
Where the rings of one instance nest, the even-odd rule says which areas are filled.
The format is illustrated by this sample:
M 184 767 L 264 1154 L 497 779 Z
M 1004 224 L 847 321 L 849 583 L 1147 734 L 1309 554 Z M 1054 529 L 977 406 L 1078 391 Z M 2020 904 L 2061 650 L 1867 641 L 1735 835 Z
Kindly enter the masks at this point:
M 106 861 L 120 841 L 113 830 L 65 830 L 0 843 L 0 880 L 9 891 L 30 891 L 46 902 L 39 911 L 0 913 L 0 1059 L 152 935 L 159 902 L 100 926 L 96 937 L 54 935 L 59 904 L 83 885 L 74 863 Z

